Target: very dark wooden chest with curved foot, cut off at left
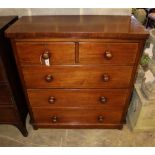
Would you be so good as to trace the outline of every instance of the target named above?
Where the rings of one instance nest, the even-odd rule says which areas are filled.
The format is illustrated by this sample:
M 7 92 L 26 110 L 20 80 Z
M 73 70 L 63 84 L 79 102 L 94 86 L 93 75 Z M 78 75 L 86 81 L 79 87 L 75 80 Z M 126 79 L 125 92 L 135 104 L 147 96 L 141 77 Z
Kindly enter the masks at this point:
M 17 19 L 16 16 L 0 16 L 0 124 L 15 125 L 27 136 L 25 120 L 28 109 L 25 95 L 11 44 L 4 36 L 4 31 Z

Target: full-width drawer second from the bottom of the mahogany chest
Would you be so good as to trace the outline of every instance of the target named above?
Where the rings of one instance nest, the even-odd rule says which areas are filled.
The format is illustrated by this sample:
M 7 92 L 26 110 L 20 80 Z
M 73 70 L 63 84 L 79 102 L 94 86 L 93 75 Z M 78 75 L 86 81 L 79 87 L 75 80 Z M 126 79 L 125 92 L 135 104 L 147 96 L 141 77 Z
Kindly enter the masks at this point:
M 127 89 L 36 89 L 28 90 L 32 107 L 123 107 Z

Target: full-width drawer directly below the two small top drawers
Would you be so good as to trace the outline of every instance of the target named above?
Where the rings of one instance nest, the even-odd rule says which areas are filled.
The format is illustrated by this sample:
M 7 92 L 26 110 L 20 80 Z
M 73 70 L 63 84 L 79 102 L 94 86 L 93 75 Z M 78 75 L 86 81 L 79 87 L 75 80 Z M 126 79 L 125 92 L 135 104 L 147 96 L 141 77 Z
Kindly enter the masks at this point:
M 130 66 L 24 66 L 27 88 L 127 88 Z

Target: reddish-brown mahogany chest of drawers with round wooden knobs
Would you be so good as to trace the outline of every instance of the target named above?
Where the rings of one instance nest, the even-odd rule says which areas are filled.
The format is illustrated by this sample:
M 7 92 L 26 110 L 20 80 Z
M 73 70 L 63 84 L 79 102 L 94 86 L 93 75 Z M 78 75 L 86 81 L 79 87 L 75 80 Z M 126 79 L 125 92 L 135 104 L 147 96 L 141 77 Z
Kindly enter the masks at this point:
M 30 16 L 6 36 L 37 128 L 121 129 L 148 32 L 130 16 Z

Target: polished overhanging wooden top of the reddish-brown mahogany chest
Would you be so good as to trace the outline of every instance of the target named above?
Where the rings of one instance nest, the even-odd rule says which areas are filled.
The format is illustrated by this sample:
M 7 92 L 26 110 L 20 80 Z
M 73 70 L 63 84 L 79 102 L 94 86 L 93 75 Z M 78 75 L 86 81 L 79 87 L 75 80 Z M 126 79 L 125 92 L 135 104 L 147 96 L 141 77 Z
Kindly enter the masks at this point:
M 145 39 L 148 32 L 133 16 L 23 16 L 6 31 L 9 38 Z

